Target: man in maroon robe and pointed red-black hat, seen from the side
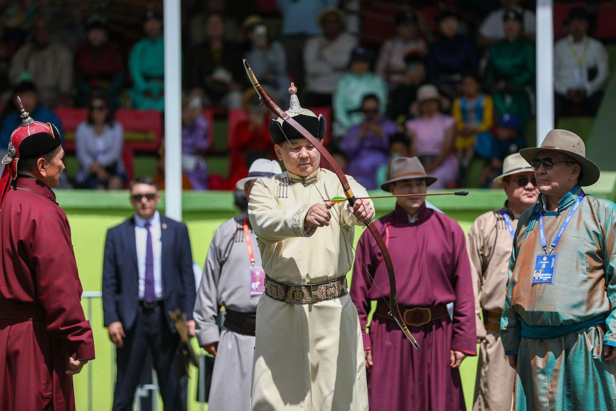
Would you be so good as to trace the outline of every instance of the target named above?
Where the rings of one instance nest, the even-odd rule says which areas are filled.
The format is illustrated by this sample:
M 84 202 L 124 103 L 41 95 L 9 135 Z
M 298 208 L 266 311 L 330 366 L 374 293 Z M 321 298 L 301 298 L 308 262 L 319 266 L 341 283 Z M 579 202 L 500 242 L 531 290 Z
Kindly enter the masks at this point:
M 71 231 L 55 203 L 60 133 L 22 108 L 0 179 L 0 410 L 75 410 L 73 374 L 94 359 Z

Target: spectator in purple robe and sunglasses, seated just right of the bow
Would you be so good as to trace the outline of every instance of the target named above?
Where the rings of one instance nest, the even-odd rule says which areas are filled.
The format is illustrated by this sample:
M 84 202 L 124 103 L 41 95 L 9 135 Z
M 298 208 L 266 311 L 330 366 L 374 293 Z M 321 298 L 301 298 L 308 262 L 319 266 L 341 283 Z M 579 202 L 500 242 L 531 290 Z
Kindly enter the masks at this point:
M 363 97 L 362 123 L 352 126 L 339 144 L 349 158 L 347 173 L 367 190 L 378 187 L 376 170 L 389 160 L 389 137 L 397 132 L 394 121 L 379 112 L 380 102 L 375 94 Z

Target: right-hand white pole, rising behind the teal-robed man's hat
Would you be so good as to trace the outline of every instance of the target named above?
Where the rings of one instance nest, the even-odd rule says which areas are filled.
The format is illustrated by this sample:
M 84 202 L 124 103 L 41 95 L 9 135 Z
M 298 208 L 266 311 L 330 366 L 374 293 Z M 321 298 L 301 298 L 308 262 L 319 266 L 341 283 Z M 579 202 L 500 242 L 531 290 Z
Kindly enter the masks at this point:
M 554 23 L 552 0 L 537 0 L 537 147 L 554 128 Z

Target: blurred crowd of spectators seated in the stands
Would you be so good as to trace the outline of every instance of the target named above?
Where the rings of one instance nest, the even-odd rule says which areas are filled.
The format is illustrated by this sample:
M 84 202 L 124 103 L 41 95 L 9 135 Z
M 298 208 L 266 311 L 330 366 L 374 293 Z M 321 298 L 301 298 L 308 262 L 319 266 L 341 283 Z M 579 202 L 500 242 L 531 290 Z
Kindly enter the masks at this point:
M 39 12 L 51 7 L 39 3 L 0 2 L 0 150 L 20 121 L 17 95 L 35 120 L 62 133 L 57 114 L 71 107 L 83 116 L 70 130 L 68 149 L 79 168 L 63 186 L 124 187 L 132 166 L 124 164 L 116 110 L 164 110 L 161 2 L 126 2 L 132 13 L 124 9 L 124 20 L 111 6 Z M 242 58 L 283 110 L 293 81 L 303 107 L 328 113 L 325 144 L 367 189 L 386 180 L 392 158 L 408 155 L 438 177 L 436 188 L 490 187 L 503 159 L 529 144 L 524 133 L 536 112 L 534 3 L 444 1 L 434 10 L 426 2 L 431 12 L 421 1 L 410 3 L 183 1 L 184 188 L 230 189 L 255 158 L 275 158 L 270 115 Z M 375 7 L 394 12 L 367 23 Z M 596 15 L 589 10 L 569 8 L 565 36 L 554 46 L 556 116 L 594 115 L 601 104 L 608 54 L 591 36 Z M 71 18 L 81 26 L 67 23 Z M 393 25 L 395 35 L 379 39 Z M 208 173 L 205 160 L 214 118 L 228 121 L 227 151 L 217 153 L 229 158 L 224 178 Z M 162 140 L 153 149 L 160 182 Z M 478 161 L 480 181 L 469 182 L 466 172 Z

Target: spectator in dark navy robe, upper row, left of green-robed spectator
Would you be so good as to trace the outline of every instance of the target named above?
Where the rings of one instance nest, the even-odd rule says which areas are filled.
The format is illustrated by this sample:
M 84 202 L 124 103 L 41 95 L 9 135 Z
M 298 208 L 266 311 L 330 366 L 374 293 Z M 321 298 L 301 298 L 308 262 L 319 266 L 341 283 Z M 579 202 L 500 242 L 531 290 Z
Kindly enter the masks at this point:
M 477 52 L 471 41 L 458 33 L 458 15 L 442 10 L 436 16 L 440 40 L 432 44 L 426 68 L 428 81 L 439 91 L 453 99 L 458 96 L 458 85 L 463 73 L 477 71 Z

